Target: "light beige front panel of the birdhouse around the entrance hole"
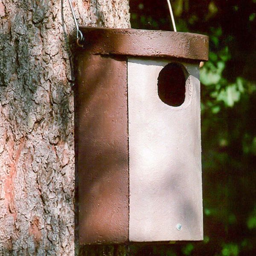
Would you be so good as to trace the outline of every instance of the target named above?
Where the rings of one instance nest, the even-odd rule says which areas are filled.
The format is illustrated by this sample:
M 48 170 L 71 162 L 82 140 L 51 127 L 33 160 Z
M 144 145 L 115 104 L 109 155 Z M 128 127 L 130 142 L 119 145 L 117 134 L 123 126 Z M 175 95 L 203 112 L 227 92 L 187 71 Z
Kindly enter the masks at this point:
M 172 107 L 157 93 L 169 62 L 128 59 L 130 241 L 203 239 L 199 70 L 183 63 L 186 98 Z

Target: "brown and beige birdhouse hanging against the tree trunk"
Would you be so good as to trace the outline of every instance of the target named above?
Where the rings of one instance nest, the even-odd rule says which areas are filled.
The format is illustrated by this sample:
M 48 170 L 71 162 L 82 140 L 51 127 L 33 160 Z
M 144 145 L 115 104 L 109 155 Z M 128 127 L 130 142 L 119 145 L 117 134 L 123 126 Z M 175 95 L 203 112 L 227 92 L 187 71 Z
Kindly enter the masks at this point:
M 204 35 L 81 27 L 80 244 L 203 239 Z

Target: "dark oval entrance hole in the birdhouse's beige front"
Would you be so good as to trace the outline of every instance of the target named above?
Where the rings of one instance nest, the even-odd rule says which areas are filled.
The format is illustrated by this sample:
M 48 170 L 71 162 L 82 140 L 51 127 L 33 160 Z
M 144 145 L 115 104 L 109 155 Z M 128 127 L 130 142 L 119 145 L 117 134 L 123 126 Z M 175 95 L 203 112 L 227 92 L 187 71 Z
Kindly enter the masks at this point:
M 158 96 L 169 106 L 178 107 L 185 101 L 186 76 L 181 64 L 169 63 L 158 76 Z

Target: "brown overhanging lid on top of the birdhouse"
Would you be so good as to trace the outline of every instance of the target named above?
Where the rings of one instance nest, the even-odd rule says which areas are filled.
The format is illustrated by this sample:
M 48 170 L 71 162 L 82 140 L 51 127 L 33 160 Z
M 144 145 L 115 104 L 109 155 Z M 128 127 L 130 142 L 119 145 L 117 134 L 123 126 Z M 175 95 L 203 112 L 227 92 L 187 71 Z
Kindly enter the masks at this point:
M 193 33 L 143 29 L 80 27 L 84 49 L 94 54 L 208 60 L 208 37 Z

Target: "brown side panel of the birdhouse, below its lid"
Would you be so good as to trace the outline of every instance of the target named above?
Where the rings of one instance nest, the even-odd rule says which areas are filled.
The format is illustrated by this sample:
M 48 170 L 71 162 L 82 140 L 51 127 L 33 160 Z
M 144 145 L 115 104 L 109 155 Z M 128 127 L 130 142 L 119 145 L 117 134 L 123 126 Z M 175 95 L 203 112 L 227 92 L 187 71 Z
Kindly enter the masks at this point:
M 128 241 L 126 59 L 81 53 L 76 96 L 80 244 Z

